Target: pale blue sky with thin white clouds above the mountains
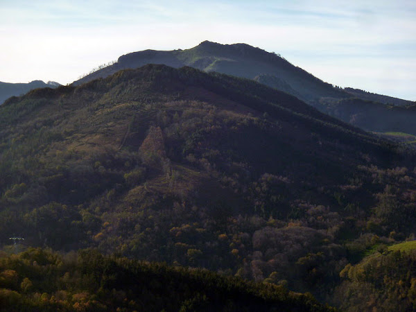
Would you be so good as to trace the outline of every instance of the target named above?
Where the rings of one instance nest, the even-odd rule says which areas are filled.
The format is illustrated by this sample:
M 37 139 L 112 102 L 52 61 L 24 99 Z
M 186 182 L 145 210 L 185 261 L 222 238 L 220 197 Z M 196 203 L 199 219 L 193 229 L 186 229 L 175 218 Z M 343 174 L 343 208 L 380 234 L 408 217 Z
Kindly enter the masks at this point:
M 333 85 L 416 101 L 416 1 L 0 0 L 0 81 L 71 83 L 204 40 L 280 53 Z

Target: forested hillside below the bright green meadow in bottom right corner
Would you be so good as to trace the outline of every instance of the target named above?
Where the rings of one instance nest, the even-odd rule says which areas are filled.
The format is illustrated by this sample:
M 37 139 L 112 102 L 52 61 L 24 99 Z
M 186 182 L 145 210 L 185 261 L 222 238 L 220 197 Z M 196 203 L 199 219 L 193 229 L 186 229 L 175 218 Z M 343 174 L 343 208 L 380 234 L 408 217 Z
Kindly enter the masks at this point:
M 412 243 L 415 243 L 413 241 Z M 402 243 L 399 245 L 407 245 Z M 414 244 L 413 244 L 414 245 Z M 345 311 L 415 311 L 416 252 L 379 245 L 378 251 L 341 272 L 336 304 Z

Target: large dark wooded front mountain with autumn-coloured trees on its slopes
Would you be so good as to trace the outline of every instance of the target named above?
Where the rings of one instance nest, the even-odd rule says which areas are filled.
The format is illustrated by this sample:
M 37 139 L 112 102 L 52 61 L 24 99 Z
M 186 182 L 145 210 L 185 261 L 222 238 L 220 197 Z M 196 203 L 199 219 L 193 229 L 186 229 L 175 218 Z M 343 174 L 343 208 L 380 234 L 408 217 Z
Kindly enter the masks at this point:
M 332 303 L 347 265 L 416 230 L 415 155 L 254 80 L 150 64 L 9 98 L 0 122 L 0 241 L 25 239 L 3 250 L 96 248 Z

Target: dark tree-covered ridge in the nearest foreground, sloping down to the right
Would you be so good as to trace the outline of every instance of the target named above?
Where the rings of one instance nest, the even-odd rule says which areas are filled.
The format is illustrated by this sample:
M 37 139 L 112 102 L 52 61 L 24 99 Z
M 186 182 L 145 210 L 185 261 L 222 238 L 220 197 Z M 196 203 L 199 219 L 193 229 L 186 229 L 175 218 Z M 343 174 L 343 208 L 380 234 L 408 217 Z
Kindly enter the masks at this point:
M 94 250 L 0 255 L 1 311 L 333 311 L 312 295 Z

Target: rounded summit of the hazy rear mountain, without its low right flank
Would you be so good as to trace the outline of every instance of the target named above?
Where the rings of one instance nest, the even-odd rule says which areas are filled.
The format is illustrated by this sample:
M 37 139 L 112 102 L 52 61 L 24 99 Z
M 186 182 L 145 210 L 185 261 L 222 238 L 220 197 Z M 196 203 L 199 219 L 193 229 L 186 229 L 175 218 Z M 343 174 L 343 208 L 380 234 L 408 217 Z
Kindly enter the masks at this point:
M 290 88 L 293 88 L 297 90 L 294 95 L 304 101 L 312 101 L 321 96 L 349 97 L 346 92 L 333 88 L 275 53 L 268 53 L 248 44 L 218 44 L 209 41 L 187 50 L 145 50 L 122 55 L 112 66 L 85 76 L 74 84 L 79 85 L 94 78 L 108 76 L 120 69 L 137 68 L 149 63 L 166 64 L 175 68 L 190 66 L 207 72 L 217 71 L 237 77 L 256 78 L 261 83 L 266 81 L 261 76 L 273 75 L 290 86 L 282 91 L 291 93 Z

